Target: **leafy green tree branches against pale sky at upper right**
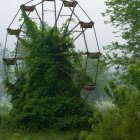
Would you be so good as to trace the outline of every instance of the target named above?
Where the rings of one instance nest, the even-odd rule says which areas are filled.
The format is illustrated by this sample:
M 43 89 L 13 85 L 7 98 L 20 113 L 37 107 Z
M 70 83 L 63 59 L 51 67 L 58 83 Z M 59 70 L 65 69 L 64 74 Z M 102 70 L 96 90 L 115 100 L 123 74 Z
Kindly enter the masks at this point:
M 125 40 L 125 44 L 113 42 L 106 47 L 107 60 L 115 64 L 116 69 L 126 70 L 128 64 L 133 64 L 140 56 L 140 1 L 139 0 L 106 0 L 108 9 L 104 16 L 109 16 L 111 23 Z M 126 72 L 126 71 L 125 71 Z

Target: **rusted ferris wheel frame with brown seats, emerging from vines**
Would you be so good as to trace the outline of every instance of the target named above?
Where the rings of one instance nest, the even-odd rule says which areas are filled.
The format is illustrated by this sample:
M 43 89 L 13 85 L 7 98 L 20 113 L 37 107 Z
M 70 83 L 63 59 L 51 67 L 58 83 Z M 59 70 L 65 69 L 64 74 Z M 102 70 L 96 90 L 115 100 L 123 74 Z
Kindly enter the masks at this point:
M 58 15 L 57 15 L 56 0 L 41 0 L 41 2 L 39 2 L 39 3 L 35 4 L 35 5 L 27 6 L 27 4 L 30 4 L 33 1 L 34 0 L 30 0 L 29 2 L 27 2 L 27 3 L 25 3 L 25 4 L 20 6 L 20 8 L 17 11 L 16 15 L 12 19 L 9 27 L 7 28 L 7 34 L 6 34 L 6 39 L 5 39 L 5 47 L 4 47 L 4 54 L 3 54 L 3 62 L 5 64 L 5 66 L 6 65 L 15 65 L 15 67 L 16 67 L 16 69 L 18 71 L 17 61 L 23 59 L 23 58 L 17 56 L 17 49 L 18 49 L 18 39 L 20 37 L 20 33 L 23 32 L 22 31 L 22 27 L 24 25 L 24 22 L 22 23 L 22 25 L 20 26 L 19 29 L 11 29 L 10 28 L 11 25 L 13 24 L 14 20 L 16 19 L 17 15 L 19 14 L 21 8 L 24 8 L 24 10 L 26 12 L 28 12 L 28 16 L 30 15 L 31 12 L 35 11 L 35 13 L 38 16 L 38 19 L 40 20 L 40 23 L 42 24 L 42 29 L 43 29 L 44 28 L 44 19 L 45 19 L 44 12 L 46 12 L 46 10 L 44 9 L 44 3 L 45 2 L 53 2 L 54 3 L 54 10 L 52 12 L 54 12 L 55 23 L 54 23 L 54 25 L 52 27 L 57 28 L 58 27 L 57 23 L 59 21 L 59 18 L 61 16 L 66 16 L 66 17 L 69 17 L 69 20 L 68 20 L 68 23 L 67 23 L 67 27 L 66 27 L 68 33 L 79 32 L 79 34 L 75 38 L 73 38 L 73 42 L 75 42 L 80 36 L 83 35 L 86 52 L 81 52 L 81 54 L 86 56 L 85 74 L 87 72 L 88 59 L 89 58 L 90 59 L 97 59 L 95 80 L 91 84 L 87 84 L 87 85 L 83 86 L 83 89 L 85 89 L 88 92 L 87 96 L 85 97 L 85 99 L 86 99 L 89 96 L 89 94 L 91 93 L 91 91 L 93 91 L 96 88 L 100 56 L 102 55 L 101 52 L 100 52 L 100 47 L 99 47 L 98 38 L 97 38 L 97 35 L 96 35 L 96 30 L 95 30 L 95 27 L 94 27 L 94 22 L 91 20 L 91 18 L 88 16 L 88 14 L 84 11 L 84 9 L 80 6 L 80 4 L 77 1 L 74 1 L 74 0 L 71 0 L 71 1 L 61 0 L 62 4 L 61 4 L 61 7 L 60 7 L 60 9 L 58 11 Z M 37 8 L 36 8 L 40 4 L 42 5 L 42 9 L 41 9 L 42 13 L 41 13 L 41 15 L 39 14 L 39 12 L 37 11 Z M 80 18 L 75 13 L 75 8 L 77 6 L 86 15 L 86 17 L 89 19 L 89 22 L 84 22 L 84 21 L 80 20 Z M 62 12 L 64 7 L 67 7 L 70 10 L 71 14 L 69 14 L 69 15 L 61 15 L 61 12 Z M 73 16 L 78 20 L 78 23 L 72 29 L 69 29 L 69 25 L 71 23 L 71 19 L 73 18 Z M 75 30 L 78 26 L 80 26 L 81 31 L 76 31 Z M 87 40 L 86 40 L 86 35 L 85 35 L 85 32 L 88 29 L 92 29 L 93 32 L 94 32 L 95 40 L 96 40 L 96 44 L 97 44 L 97 48 L 98 48 L 98 52 L 89 52 L 88 44 L 87 44 Z M 15 47 L 15 49 L 16 49 L 15 50 L 15 56 L 13 58 L 6 58 L 6 56 L 5 56 L 6 48 L 7 48 L 7 38 L 8 38 L 8 35 L 15 35 L 17 37 L 17 43 L 16 43 L 16 47 Z M 62 54 L 62 55 L 65 55 L 65 54 Z M 73 54 L 71 54 L 71 55 L 73 55 Z

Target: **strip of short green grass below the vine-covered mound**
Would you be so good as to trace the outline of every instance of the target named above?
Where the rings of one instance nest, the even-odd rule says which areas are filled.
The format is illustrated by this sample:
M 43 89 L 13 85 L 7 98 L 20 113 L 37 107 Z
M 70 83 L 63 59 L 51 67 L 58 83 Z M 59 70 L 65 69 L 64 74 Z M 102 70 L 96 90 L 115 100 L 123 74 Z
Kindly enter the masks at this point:
M 74 132 L 0 132 L 0 140 L 77 140 Z

